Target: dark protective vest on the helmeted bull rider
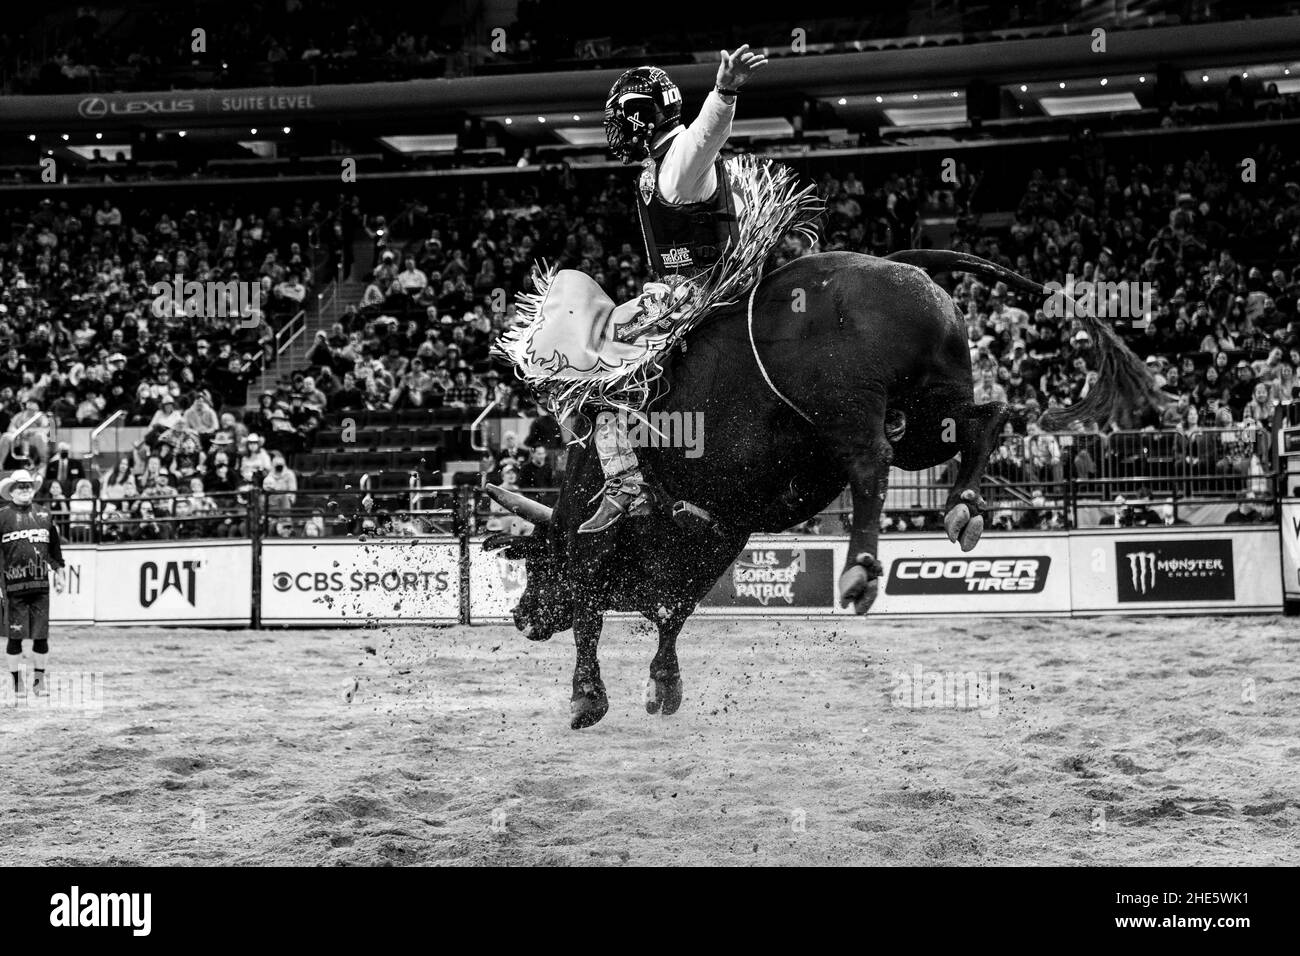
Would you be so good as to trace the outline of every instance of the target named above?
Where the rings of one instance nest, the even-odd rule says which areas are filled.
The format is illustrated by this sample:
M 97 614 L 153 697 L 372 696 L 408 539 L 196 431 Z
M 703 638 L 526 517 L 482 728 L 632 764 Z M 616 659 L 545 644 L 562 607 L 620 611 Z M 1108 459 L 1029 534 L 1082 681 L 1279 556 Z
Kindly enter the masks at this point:
M 660 278 L 694 278 L 716 263 L 727 241 L 740 237 L 740 220 L 732 199 L 727 169 L 719 159 L 718 189 L 701 203 L 670 203 L 659 191 L 659 168 L 653 159 L 641 168 L 637 183 L 641 235 L 650 267 Z

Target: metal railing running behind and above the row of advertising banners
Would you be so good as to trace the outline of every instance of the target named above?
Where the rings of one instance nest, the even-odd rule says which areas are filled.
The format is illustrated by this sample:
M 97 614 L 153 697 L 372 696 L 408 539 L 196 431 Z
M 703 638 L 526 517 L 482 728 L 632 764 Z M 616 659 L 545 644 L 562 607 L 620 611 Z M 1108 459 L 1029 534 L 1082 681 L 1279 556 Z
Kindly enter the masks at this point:
M 96 437 L 112 423 L 109 419 L 96 429 Z M 1242 502 L 1251 502 L 1245 510 L 1253 510 L 1256 519 L 1277 520 L 1280 475 L 1265 468 L 1264 460 L 1271 462 L 1268 454 L 1261 460 L 1266 441 L 1266 431 L 1251 425 L 1192 433 L 1011 434 L 994 451 L 980 494 L 988 502 L 991 527 L 1006 531 L 1152 524 L 1166 518 L 1213 525 L 1227 520 L 1234 506 L 1242 510 Z M 1204 457 L 1206 449 L 1209 458 Z M 391 472 L 364 475 L 355 488 L 334 490 L 250 488 L 192 496 L 177 489 L 174 494 L 125 501 L 40 501 L 74 544 L 368 535 L 468 538 L 525 529 L 525 523 L 486 497 L 478 485 L 482 477 L 473 477 L 469 484 L 425 485 L 416 472 Z M 885 529 L 941 531 L 950 489 L 948 467 L 920 476 L 894 470 L 883 515 Z M 521 490 L 549 506 L 560 494 L 554 486 Z M 818 516 L 819 527 L 801 531 L 846 532 L 850 514 L 849 497 L 842 494 Z

